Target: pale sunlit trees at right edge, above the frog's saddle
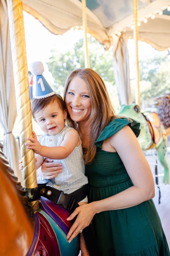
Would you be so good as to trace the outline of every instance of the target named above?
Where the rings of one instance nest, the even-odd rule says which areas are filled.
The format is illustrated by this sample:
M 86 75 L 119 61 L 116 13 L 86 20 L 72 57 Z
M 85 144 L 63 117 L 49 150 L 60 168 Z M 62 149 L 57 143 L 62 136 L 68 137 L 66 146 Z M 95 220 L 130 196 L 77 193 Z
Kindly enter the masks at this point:
M 145 58 L 140 61 L 140 81 L 146 81 L 148 85 L 141 88 L 141 99 L 147 100 L 170 93 L 170 59 L 167 53 L 155 53 L 152 59 Z

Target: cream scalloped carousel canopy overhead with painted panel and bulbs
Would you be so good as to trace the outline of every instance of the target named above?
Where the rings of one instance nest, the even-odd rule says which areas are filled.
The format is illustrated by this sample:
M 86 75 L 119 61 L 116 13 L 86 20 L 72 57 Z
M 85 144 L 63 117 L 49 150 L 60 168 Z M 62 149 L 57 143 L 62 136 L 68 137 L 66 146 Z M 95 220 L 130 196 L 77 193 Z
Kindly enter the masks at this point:
M 158 50 L 170 47 L 170 0 L 138 0 L 139 39 Z M 88 32 L 106 48 L 112 36 L 125 32 L 133 36 L 132 0 L 86 0 Z M 52 33 L 63 34 L 70 28 L 82 28 L 82 3 L 80 0 L 23 0 L 23 9 Z M 163 11 L 159 15 L 159 11 Z M 156 15 L 155 15 L 156 14 Z M 155 18 L 151 18 L 155 15 Z M 147 23 L 143 21 L 148 19 Z

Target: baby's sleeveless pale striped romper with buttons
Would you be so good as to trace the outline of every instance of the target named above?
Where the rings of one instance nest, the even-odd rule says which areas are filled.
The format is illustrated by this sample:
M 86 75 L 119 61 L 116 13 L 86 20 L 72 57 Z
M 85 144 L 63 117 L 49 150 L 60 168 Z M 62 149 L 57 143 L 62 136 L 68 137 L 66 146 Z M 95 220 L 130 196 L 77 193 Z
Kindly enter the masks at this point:
M 61 132 L 55 135 L 48 135 L 46 133 L 41 135 L 41 145 L 47 147 L 60 146 L 66 132 L 73 128 L 65 126 Z M 47 183 L 47 186 L 63 190 L 64 193 L 70 194 L 88 183 L 85 176 L 85 165 L 83 160 L 83 151 L 81 144 L 75 147 L 71 154 L 60 160 L 54 159 L 54 163 L 61 163 L 63 165 L 63 172 L 60 172 L 55 178 L 51 180 L 38 177 L 38 183 Z M 87 202 L 87 196 L 81 202 Z

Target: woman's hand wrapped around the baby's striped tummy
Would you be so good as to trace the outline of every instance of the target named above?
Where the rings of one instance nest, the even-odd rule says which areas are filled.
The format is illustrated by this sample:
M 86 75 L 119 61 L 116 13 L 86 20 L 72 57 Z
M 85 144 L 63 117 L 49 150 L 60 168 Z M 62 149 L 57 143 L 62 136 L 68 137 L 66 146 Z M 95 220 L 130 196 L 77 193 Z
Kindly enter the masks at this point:
M 53 163 L 52 159 L 45 158 L 41 166 L 41 176 L 44 179 L 50 180 L 55 178 L 60 172 L 63 172 L 62 164 Z

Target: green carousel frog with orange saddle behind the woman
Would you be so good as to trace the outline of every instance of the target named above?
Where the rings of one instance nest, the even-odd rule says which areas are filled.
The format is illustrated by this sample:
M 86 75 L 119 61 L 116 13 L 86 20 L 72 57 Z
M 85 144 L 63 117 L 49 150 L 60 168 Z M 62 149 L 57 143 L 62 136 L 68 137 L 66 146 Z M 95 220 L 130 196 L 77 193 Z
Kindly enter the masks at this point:
M 142 150 L 156 148 L 159 161 L 164 168 L 163 182 L 170 184 L 170 167 L 167 158 L 166 131 L 156 112 L 140 112 L 137 104 L 122 105 L 119 115 L 135 119 L 140 123 L 140 134 L 137 138 Z

